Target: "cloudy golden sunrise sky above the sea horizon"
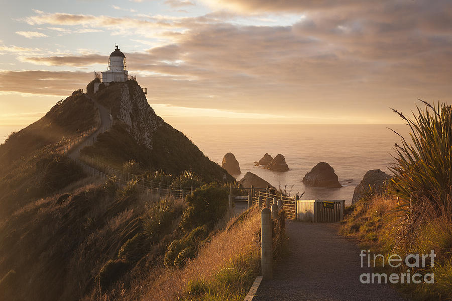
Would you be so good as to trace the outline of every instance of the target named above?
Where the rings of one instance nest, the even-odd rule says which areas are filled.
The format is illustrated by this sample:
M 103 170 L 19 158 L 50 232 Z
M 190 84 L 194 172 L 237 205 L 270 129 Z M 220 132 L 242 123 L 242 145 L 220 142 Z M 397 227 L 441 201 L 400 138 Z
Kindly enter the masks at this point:
M 4 1 L 0 124 L 30 124 L 107 68 L 169 123 L 391 124 L 452 103 L 452 1 Z

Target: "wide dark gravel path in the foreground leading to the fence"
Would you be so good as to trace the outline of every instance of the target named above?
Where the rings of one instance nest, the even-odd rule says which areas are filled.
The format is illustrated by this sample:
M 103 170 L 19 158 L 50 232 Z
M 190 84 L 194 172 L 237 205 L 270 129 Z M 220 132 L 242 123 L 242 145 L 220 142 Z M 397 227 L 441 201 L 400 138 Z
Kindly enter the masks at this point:
M 360 249 L 337 224 L 290 222 L 289 255 L 263 280 L 253 301 L 404 300 L 389 284 L 362 284 Z M 365 266 L 366 266 L 365 261 Z

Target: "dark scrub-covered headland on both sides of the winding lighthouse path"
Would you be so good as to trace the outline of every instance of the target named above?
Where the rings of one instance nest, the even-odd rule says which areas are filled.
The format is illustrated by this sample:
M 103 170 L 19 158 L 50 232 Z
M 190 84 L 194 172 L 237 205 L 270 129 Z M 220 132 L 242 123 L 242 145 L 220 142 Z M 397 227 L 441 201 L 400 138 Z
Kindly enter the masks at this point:
M 222 181 L 226 172 L 155 115 L 135 81 L 104 87 L 98 95 L 99 103 L 111 105 L 115 125 L 83 154 L 179 185 Z M 183 265 L 224 215 L 226 203 L 215 203 L 220 211 L 204 206 L 208 220 L 192 224 L 196 206 L 206 199 L 156 199 L 142 194 L 134 181 L 121 188 L 84 174 L 60 150 L 99 120 L 89 97 L 74 92 L 0 146 L 4 299 L 117 299 L 111 290 L 128 290 L 161 265 L 175 240 L 186 244 L 175 253 L 177 265 Z M 223 196 L 218 202 L 227 202 Z

